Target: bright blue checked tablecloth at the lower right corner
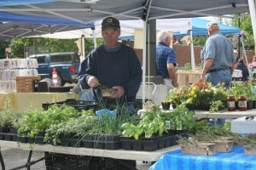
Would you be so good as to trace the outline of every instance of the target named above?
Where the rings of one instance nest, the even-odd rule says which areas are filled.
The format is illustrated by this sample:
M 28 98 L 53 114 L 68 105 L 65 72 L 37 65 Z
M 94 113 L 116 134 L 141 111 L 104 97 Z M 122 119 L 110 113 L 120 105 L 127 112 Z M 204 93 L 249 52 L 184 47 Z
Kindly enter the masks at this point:
M 235 146 L 230 153 L 214 156 L 183 155 L 174 150 L 161 156 L 150 170 L 256 170 L 256 156 L 248 156 L 242 147 Z

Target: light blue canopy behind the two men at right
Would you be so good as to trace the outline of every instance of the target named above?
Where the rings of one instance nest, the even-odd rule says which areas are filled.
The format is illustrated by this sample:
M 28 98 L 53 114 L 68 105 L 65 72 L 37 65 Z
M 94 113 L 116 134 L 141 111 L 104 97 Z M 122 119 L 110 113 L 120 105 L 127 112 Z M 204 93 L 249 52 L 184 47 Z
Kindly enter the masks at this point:
M 193 36 L 207 36 L 207 23 L 210 20 L 204 20 L 201 18 L 192 18 L 192 33 Z M 227 34 L 239 34 L 241 32 L 239 27 L 236 26 L 228 26 L 219 23 L 220 33 L 227 35 Z M 189 34 L 189 32 L 174 32 L 173 35 L 176 37 L 183 37 Z

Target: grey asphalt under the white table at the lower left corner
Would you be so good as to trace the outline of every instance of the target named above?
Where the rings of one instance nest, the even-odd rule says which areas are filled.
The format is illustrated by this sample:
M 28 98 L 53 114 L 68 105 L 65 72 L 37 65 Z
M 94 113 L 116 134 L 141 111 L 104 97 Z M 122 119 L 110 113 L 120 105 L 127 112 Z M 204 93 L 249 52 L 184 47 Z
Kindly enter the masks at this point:
M 9 170 L 15 167 L 20 167 L 26 164 L 27 157 L 29 155 L 29 150 L 18 150 L 12 148 L 1 147 L 1 153 L 3 156 L 3 161 L 5 164 L 5 170 Z M 31 161 L 37 161 L 38 159 L 44 157 L 44 152 L 33 151 Z M 0 166 L 2 170 L 2 167 Z M 26 167 L 20 168 L 21 170 L 26 170 Z M 36 164 L 32 165 L 31 170 L 46 170 L 44 160 L 38 161 Z

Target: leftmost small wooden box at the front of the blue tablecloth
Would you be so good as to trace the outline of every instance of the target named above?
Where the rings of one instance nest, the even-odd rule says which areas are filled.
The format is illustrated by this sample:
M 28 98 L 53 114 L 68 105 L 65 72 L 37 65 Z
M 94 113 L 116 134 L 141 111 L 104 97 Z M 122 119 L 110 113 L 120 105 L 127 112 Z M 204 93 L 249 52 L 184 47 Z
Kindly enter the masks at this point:
M 216 153 L 216 144 L 214 143 L 198 143 L 198 145 L 181 145 L 183 154 L 212 156 Z

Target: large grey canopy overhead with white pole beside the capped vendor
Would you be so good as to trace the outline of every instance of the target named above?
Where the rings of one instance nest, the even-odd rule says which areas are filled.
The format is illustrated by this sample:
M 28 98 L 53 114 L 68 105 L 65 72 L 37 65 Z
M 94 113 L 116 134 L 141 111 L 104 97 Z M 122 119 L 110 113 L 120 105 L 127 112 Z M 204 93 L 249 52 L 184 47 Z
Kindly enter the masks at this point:
M 250 9 L 248 8 L 250 6 Z M 0 11 L 65 18 L 83 24 L 114 16 L 119 20 L 143 20 L 143 87 L 146 79 L 146 27 L 148 20 L 220 16 L 250 12 L 255 37 L 255 0 L 12 0 L 0 3 Z M 256 53 L 256 52 L 255 52 Z M 143 88 L 143 100 L 145 88 Z

